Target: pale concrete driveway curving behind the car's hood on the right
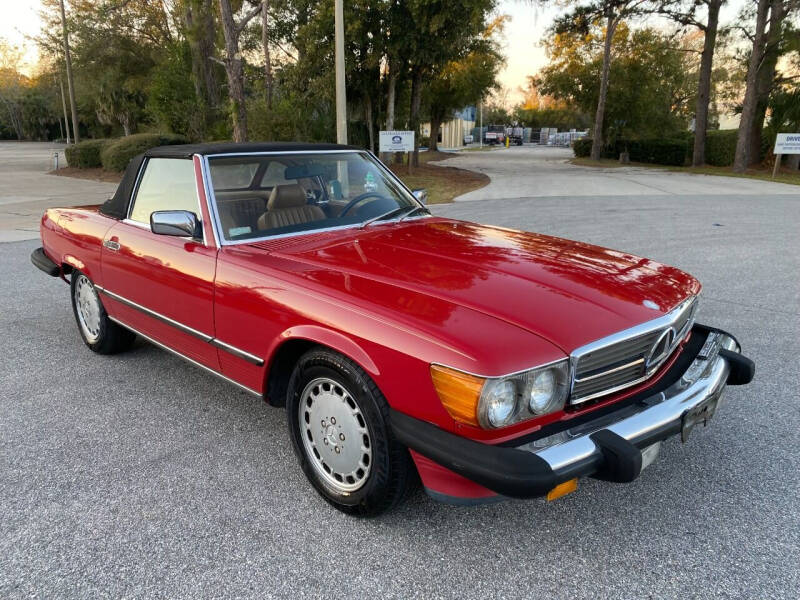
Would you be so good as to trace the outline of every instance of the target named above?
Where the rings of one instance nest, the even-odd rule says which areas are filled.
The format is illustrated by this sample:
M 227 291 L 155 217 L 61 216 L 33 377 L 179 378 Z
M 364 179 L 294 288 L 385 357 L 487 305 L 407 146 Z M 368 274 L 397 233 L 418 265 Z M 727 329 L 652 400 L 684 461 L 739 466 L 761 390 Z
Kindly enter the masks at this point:
M 569 148 L 512 146 L 461 152 L 443 164 L 488 175 L 492 182 L 456 202 L 546 196 L 796 195 L 798 186 L 741 177 L 677 173 L 642 167 L 579 167 Z

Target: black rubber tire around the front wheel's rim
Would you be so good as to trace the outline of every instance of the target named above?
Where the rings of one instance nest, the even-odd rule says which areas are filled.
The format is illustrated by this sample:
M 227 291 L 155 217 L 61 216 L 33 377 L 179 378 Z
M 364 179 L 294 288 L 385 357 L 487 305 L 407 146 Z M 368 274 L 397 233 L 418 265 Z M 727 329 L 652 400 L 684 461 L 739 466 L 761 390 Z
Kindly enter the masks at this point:
M 371 466 L 362 486 L 355 491 L 341 492 L 326 482 L 312 464 L 314 457 L 303 442 L 301 397 L 307 386 L 320 378 L 333 380 L 345 388 L 366 422 Z M 389 427 L 389 405 L 375 382 L 350 359 L 325 348 L 304 354 L 289 380 L 286 414 L 300 467 L 317 492 L 340 511 L 374 517 L 395 507 L 412 489 L 416 469 L 408 449 L 394 439 Z

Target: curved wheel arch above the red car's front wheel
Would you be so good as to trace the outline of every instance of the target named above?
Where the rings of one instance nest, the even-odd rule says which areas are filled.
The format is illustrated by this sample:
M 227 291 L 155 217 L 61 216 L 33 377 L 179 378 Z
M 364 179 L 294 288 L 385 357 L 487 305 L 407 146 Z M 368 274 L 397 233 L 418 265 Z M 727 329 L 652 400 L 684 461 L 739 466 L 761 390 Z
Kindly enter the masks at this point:
M 294 365 L 303 354 L 316 347 L 327 348 L 347 357 L 373 379 L 380 374 L 369 354 L 342 333 L 318 325 L 292 327 L 283 332 L 266 361 L 264 395 L 271 406 L 284 406 Z

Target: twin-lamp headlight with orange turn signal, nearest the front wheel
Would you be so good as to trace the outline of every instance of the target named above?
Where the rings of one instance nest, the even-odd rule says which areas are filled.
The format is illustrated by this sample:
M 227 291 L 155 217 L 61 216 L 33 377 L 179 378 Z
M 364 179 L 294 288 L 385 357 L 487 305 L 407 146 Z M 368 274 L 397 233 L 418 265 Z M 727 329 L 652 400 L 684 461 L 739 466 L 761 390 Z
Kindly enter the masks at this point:
M 431 378 L 442 405 L 456 421 L 493 429 L 564 408 L 569 361 L 489 378 L 432 365 Z

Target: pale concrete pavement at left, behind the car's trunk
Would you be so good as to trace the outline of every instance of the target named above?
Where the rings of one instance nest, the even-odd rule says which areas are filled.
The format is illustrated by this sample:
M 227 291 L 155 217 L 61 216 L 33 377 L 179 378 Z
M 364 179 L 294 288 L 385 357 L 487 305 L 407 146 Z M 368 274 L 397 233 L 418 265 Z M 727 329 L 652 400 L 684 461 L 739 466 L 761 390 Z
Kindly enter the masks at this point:
M 59 165 L 66 165 L 64 144 L 0 142 L 0 242 L 38 238 L 45 209 L 99 204 L 117 189 L 113 183 L 45 175 L 56 153 Z

